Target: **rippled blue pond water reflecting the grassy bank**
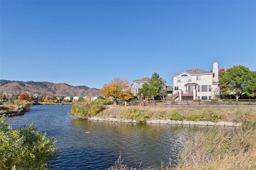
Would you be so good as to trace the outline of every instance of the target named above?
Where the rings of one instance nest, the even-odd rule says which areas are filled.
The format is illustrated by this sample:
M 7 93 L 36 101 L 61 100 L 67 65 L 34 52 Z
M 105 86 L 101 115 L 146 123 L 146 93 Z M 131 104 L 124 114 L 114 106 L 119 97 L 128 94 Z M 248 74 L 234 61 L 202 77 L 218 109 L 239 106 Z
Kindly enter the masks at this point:
M 38 105 L 23 116 L 12 117 L 13 128 L 34 123 L 57 139 L 61 156 L 52 169 L 105 169 L 121 152 L 128 166 L 177 164 L 184 141 L 205 126 L 133 124 L 87 121 L 68 115 L 70 105 Z M 90 133 L 85 133 L 90 131 Z

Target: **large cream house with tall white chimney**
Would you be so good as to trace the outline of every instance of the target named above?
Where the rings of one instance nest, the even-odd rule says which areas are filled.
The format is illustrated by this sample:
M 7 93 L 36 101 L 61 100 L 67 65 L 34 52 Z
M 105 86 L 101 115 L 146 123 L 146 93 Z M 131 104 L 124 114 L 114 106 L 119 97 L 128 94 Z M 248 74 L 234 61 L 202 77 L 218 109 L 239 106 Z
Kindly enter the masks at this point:
M 219 95 L 218 63 L 213 64 L 212 72 L 195 68 L 172 77 L 176 100 L 207 100 Z

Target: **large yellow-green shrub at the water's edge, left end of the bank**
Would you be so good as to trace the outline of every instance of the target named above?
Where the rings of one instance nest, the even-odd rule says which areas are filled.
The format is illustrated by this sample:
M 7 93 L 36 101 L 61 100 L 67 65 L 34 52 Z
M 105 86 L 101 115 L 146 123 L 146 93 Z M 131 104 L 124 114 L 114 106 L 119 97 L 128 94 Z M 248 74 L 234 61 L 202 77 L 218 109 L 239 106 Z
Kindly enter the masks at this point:
M 97 99 L 96 101 L 91 101 L 90 99 L 85 99 L 72 103 L 70 115 L 74 115 L 81 119 L 87 119 L 88 117 L 95 116 L 104 109 L 107 109 L 104 100 Z

